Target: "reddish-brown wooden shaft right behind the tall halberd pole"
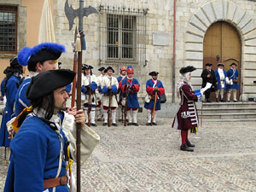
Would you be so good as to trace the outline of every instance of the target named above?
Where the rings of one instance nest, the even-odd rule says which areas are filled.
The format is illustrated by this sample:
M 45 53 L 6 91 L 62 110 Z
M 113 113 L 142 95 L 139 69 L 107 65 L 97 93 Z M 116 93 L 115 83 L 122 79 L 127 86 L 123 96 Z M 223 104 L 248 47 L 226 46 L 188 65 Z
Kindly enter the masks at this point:
M 75 73 L 77 73 L 77 66 L 78 66 L 78 52 L 75 49 L 77 35 L 78 35 L 78 29 L 76 27 L 75 34 L 74 34 L 74 44 L 73 44 L 73 52 L 74 52 L 74 55 L 73 55 L 73 72 L 75 72 Z M 77 82 L 77 78 L 75 76 L 74 79 L 73 79 L 73 83 L 72 83 L 71 107 L 74 107 L 74 102 L 75 102 L 75 99 L 76 99 L 76 93 L 75 93 L 75 91 L 76 91 L 76 82 Z

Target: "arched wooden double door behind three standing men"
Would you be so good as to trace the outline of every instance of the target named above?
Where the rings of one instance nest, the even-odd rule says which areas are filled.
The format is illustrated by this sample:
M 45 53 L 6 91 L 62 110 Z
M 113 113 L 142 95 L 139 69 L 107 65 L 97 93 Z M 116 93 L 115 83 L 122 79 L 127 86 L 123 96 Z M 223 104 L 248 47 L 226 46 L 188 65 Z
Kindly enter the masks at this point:
M 203 41 L 203 69 L 207 62 L 212 63 L 214 71 L 218 68 L 217 63 L 223 62 L 226 72 L 230 69 L 230 64 L 235 62 L 241 88 L 241 38 L 235 27 L 225 21 L 218 21 L 207 29 Z M 236 97 L 239 98 L 240 94 L 241 89 L 237 91 Z M 215 94 L 211 94 L 211 100 L 215 100 Z

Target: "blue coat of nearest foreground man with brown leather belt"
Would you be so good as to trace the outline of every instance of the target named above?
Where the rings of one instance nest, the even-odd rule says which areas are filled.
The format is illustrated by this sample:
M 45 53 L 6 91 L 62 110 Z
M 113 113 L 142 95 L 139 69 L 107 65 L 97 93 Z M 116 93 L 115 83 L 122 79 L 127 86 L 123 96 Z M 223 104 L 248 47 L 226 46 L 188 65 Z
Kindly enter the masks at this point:
M 44 191 L 44 179 L 54 178 L 58 171 L 61 143 L 53 129 L 38 117 L 27 116 L 10 144 L 11 160 L 4 192 Z M 61 130 L 63 145 L 67 141 Z M 64 150 L 62 151 L 64 154 Z M 66 162 L 62 160 L 59 177 L 65 176 Z M 49 189 L 49 192 L 52 188 Z M 56 192 L 69 191 L 67 185 L 56 187 Z

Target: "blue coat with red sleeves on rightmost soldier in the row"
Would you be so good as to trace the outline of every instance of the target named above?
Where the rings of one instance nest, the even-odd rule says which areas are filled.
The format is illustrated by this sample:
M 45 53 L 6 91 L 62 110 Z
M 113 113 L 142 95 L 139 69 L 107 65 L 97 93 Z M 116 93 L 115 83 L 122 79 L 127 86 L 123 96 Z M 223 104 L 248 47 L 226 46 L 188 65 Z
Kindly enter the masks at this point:
M 154 86 L 154 81 L 153 79 L 148 79 L 147 84 L 146 84 L 146 90 L 148 92 L 148 94 L 150 96 L 152 96 L 150 102 L 145 102 L 144 104 L 144 108 L 147 109 L 153 109 L 154 108 L 154 91 L 153 91 L 153 86 Z M 159 88 L 158 91 L 158 95 L 162 95 L 165 92 L 165 88 L 162 84 L 162 82 L 160 82 L 160 80 L 157 80 L 156 86 Z M 156 104 L 155 104 L 155 110 L 160 110 L 160 97 L 156 100 Z

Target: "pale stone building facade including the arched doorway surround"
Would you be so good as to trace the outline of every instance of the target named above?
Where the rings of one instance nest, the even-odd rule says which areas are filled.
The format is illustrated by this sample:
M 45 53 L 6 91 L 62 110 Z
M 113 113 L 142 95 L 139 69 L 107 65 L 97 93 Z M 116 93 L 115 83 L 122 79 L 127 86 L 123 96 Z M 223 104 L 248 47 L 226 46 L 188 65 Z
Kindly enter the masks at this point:
M 1 0 L 0 4 L 6 3 Z M 15 0 L 12 0 L 15 1 Z M 84 7 L 89 5 L 100 10 L 101 15 L 89 15 L 84 18 L 84 33 L 86 50 L 83 51 L 83 62 L 95 67 L 94 73 L 98 74 L 97 68 L 112 65 L 115 75 L 119 75 L 119 67 L 131 64 L 135 68 L 135 78 L 141 84 L 139 96 L 141 101 L 145 96 L 145 84 L 150 79 L 148 73 L 158 71 L 159 79 L 166 88 L 167 102 L 178 102 L 175 94 L 175 84 L 179 76 L 179 69 L 183 66 L 193 65 L 197 70 L 192 73 L 193 86 L 201 87 L 201 71 L 204 66 L 204 38 L 212 24 L 223 21 L 233 28 L 241 41 L 241 100 L 247 101 L 247 97 L 256 97 L 256 2 L 255 0 L 90 0 L 84 2 Z M 9 2 L 9 1 L 8 1 Z M 27 5 L 22 6 L 20 11 L 26 10 Z M 75 20 L 73 29 L 69 31 L 69 23 L 64 13 L 65 0 L 53 0 L 53 18 L 55 25 L 55 39 L 57 43 L 65 44 L 67 53 L 61 56 L 62 67 L 73 68 L 73 34 L 78 25 Z M 69 0 L 73 9 L 79 7 L 79 1 Z M 16 3 L 17 4 L 17 3 Z M 176 7 L 174 6 L 176 4 Z M 144 12 L 143 33 L 136 36 L 136 44 L 143 44 L 143 61 L 119 61 L 108 62 L 108 58 L 102 61 L 102 55 L 106 55 L 106 49 L 102 49 L 102 43 L 106 42 L 108 32 L 101 31 L 104 22 L 107 22 L 108 14 L 102 12 L 102 8 L 115 10 L 131 10 L 122 15 L 137 17 L 137 13 Z M 28 9 L 28 8 L 27 8 Z M 132 13 L 133 11 L 133 13 Z M 116 12 L 115 15 L 119 15 Z M 174 21 L 175 18 L 175 21 Z M 19 38 L 28 30 L 32 30 L 31 23 L 26 22 L 24 17 L 20 26 Z M 137 20 L 136 20 L 137 22 Z M 175 23 L 175 26 L 174 26 Z M 24 31 L 24 32 L 23 32 Z M 102 36 L 105 35 L 105 39 Z M 173 38 L 175 37 L 175 41 Z M 24 38 L 22 38 L 24 39 Z M 103 40 L 102 40 L 103 39 Z M 140 40 L 143 39 L 143 43 Z M 24 44 L 21 42 L 20 46 Z M 116 45 L 119 45 L 117 41 Z M 21 47 L 18 46 L 18 49 Z M 137 45 L 135 45 L 137 46 Z M 137 47 L 136 47 L 137 48 Z M 109 50 L 109 49 L 108 49 Z M 175 53 L 175 57 L 173 54 Z M 135 55 L 138 53 L 135 52 Z M 0 53 L 1 57 L 1 53 Z

